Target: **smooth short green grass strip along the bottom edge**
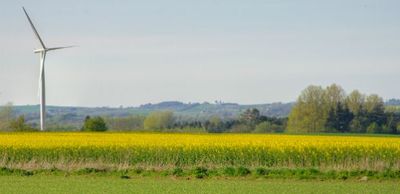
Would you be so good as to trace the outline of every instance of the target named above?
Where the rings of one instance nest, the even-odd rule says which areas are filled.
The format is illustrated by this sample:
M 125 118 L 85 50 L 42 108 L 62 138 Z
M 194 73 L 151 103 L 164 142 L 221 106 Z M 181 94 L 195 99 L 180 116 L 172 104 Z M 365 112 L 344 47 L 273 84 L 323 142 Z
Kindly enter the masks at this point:
M 0 176 L 1 193 L 400 193 L 396 181 Z

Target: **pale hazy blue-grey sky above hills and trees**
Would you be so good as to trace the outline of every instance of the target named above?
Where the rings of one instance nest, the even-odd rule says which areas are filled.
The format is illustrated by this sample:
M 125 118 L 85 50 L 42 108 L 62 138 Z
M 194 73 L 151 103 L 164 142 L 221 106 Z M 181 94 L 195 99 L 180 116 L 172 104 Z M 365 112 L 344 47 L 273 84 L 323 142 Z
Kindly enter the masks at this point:
M 0 104 L 294 101 L 310 84 L 400 97 L 400 1 L 1 0 Z

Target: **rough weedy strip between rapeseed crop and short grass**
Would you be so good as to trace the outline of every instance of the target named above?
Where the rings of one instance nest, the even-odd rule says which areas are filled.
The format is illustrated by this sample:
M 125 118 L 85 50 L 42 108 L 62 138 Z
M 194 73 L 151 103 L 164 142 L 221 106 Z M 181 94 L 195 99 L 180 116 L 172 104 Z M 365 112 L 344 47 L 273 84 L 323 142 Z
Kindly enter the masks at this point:
M 165 168 L 165 169 L 98 169 L 82 168 L 78 170 L 52 169 L 12 169 L 0 168 L 0 176 L 37 176 L 37 175 L 58 175 L 58 176 L 116 176 L 122 179 L 138 177 L 174 177 L 182 179 L 207 179 L 207 178 L 241 178 L 241 179 L 317 179 L 317 180 L 400 180 L 400 170 L 387 169 L 384 171 L 374 170 L 329 170 L 321 171 L 316 168 L 246 168 L 224 167 L 224 168 Z

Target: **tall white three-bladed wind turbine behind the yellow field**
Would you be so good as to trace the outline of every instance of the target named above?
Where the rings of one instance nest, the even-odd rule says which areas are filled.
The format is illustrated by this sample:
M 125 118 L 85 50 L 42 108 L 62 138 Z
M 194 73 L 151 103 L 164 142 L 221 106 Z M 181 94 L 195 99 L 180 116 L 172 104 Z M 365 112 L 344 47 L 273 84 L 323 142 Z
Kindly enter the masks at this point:
M 22 7 L 26 17 L 28 18 L 29 24 L 32 27 L 33 32 L 35 33 L 36 38 L 39 40 L 41 48 L 34 50 L 34 53 L 38 53 L 40 57 L 40 76 L 39 76 L 39 96 L 40 96 L 40 130 L 43 131 L 46 129 L 45 121 L 46 121 L 46 87 L 45 87 L 45 76 L 44 76 L 44 61 L 46 59 L 46 54 L 48 51 L 59 50 L 64 48 L 70 48 L 73 46 L 65 46 L 65 47 L 53 47 L 47 48 L 44 45 L 43 40 L 40 38 L 39 33 L 37 32 L 35 26 L 32 23 L 31 18 L 26 12 L 25 8 Z

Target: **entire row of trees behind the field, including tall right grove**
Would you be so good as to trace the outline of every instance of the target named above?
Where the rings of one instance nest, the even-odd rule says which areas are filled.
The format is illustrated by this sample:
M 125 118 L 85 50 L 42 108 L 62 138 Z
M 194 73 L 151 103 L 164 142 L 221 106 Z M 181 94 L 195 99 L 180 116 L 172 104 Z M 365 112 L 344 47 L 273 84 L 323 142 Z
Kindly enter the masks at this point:
M 380 96 L 365 95 L 358 90 L 346 94 L 336 84 L 326 88 L 311 85 L 301 92 L 288 117 L 267 117 L 255 108 L 244 110 L 233 119 L 215 115 L 201 120 L 175 115 L 172 111 L 155 111 L 126 117 L 87 116 L 79 130 L 396 134 L 400 133 L 400 109 L 394 103 L 392 100 L 391 106 L 385 106 Z M 15 117 L 12 104 L 7 104 L 0 108 L 0 130 L 37 129 L 27 124 L 23 115 Z

